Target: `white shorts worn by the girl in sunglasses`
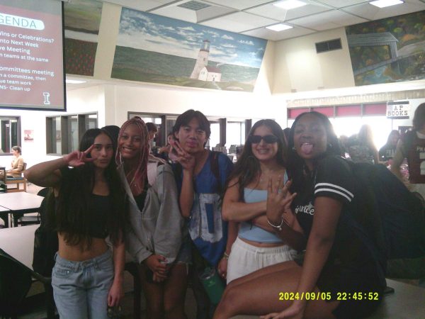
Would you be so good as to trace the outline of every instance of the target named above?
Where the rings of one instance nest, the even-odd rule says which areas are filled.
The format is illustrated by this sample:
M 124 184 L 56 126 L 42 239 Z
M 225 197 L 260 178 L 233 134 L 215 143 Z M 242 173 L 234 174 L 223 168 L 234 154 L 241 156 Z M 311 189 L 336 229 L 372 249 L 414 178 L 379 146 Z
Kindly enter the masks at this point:
M 229 261 L 227 262 L 227 284 L 263 267 L 293 260 L 295 254 L 297 252 L 288 245 L 256 247 L 237 237 L 232 245 Z

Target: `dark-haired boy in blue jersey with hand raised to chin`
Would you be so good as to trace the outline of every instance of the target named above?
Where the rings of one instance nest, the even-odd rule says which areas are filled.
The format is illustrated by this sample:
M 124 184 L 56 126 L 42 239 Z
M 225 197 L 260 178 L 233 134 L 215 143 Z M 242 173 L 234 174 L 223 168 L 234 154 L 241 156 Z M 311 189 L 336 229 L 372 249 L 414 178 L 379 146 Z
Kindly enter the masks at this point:
M 197 303 L 196 318 L 210 318 L 215 308 L 200 281 L 207 267 L 218 268 L 225 276 L 227 258 L 237 235 L 237 224 L 222 220 L 220 194 L 233 164 L 227 155 L 205 149 L 210 138 L 210 122 L 200 111 L 181 114 L 173 128 L 174 174 L 180 191 L 181 214 L 188 219 L 192 239 L 193 267 L 191 281 Z M 190 218 L 190 220 L 189 220 Z M 234 228 L 234 229 L 233 229 Z

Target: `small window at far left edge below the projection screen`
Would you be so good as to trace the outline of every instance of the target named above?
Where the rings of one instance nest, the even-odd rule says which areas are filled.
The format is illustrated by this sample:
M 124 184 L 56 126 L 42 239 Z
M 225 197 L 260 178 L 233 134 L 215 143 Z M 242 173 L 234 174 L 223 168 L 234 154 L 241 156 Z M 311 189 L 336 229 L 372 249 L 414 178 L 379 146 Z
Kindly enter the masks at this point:
M 0 154 L 10 155 L 15 145 L 21 146 L 21 118 L 0 116 Z

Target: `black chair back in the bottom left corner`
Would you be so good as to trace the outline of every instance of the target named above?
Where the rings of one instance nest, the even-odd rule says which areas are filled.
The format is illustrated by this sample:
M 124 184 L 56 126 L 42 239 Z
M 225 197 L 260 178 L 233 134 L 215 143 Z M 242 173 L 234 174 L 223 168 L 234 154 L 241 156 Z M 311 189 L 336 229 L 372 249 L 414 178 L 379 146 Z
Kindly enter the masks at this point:
M 30 271 L 1 249 L 0 269 L 0 318 L 18 318 L 32 284 Z

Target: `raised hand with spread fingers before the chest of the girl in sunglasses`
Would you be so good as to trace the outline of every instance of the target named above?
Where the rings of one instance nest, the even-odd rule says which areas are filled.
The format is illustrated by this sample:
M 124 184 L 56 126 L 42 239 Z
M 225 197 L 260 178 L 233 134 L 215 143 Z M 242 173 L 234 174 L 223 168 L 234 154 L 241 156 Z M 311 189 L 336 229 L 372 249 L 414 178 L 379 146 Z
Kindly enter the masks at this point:
M 289 187 L 292 181 L 283 184 L 283 177 L 279 176 L 276 181 L 268 179 L 266 215 L 270 223 L 280 225 L 283 213 L 290 210 L 290 204 L 296 193 L 290 194 Z

